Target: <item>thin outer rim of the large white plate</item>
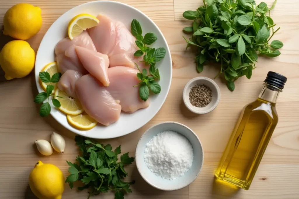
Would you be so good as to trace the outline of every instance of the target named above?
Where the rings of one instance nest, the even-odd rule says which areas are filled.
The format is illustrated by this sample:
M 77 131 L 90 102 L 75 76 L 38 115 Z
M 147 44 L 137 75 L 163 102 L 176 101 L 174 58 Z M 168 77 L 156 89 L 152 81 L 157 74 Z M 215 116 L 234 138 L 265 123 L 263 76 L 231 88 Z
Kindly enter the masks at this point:
M 135 10 L 136 12 L 140 13 L 140 14 L 143 15 L 145 18 L 147 18 L 147 19 L 148 19 L 148 20 L 149 20 L 149 21 L 156 27 L 156 29 L 158 30 L 158 32 L 160 32 L 160 34 L 161 34 L 161 36 L 162 36 L 162 39 L 163 39 L 163 41 L 164 41 L 165 44 L 166 44 L 166 50 L 167 50 L 166 55 L 168 54 L 169 59 L 170 59 L 170 80 L 169 80 L 169 84 L 168 84 L 168 87 L 167 87 L 166 95 L 164 96 L 161 105 L 157 108 L 157 110 L 156 110 L 155 113 L 152 115 L 152 117 L 149 117 L 149 120 L 148 120 L 145 124 L 142 124 L 142 125 L 140 125 L 140 126 L 136 126 L 136 127 L 134 128 L 134 130 L 131 131 L 131 132 L 128 132 L 128 133 L 125 133 L 125 134 L 121 134 L 121 135 L 115 135 L 115 136 L 111 136 L 111 137 L 106 137 L 106 138 L 101 138 L 101 137 L 97 137 L 97 136 L 93 136 L 93 135 L 88 135 L 88 134 L 86 134 L 86 132 L 88 132 L 89 130 L 88 130 L 88 131 L 83 131 L 83 130 L 75 129 L 74 127 L 71 127 L 71 125 L 66 126 L 66 125 L 62 124 L 62 122 L 61 122 L 60 120 L 58 120 L 57 118 L 55 118 L 55 117 L 53 116 L 54 112 L 52 112 L 52 111 L 50 112 L 50 115 L 51 115 L 51 116 L 52 116 L 52 117 L 53 117 L 53 118 L 54 118 L 60 125 L 62 125 L 64 128 L 68 129 L 69 131 L 71 131 L 71 132 L 73 132 L 73 133 L 75 133 L 75 134 L 77 134 L 77 135 L 81 135 L 81 136 L 88 137 L 88 138 L 94 138 L 94 139 L 111 139 L 111 138 L 122 137 L 122 136 L 124 136 L 124 135 L 128 135 L 128 134 L 130 134 L 130 133 L 132 133 L 132 132 L 135 132 L 136 130 L 138 130 L 138 129 L 140 129 L 141 127 L 143 127 L 144 125 L 146 125 L 149 121 L 151 121 L 153 117 L 155 117 L 155 115 L 159 112 L 159 110 L 161 109 L 161 107 L 162 107 L 163 104 L 165 103 L 165 100 L 166 100 L 166 98 L 167 98 L 167 96 L 168 96 L 168 93 L 169 93 L 169 90 L 170 90 L 170 86 L 171 86 L 171 81 L 172 81 L 173 64 L 172 64 L 172 58 L 171 58 L 170 49 L 169 49 L 167 40 L 165 39 L 164 34 L 163 34 L 162 31 L 160 30 L 160 28 L 157 26 L 157 24 L 155 24 L 155 22 L 154 22 L 151 18 L 149 18 L 149 16 L 147 16 L 145 13 L 143 13 L 142 11 L 138 10 L 137 8 L 135 8 L 135 7 L 133 7 L 133 6 L 129 5 L 129 4 L 125 4 L 125 3 L 122 3 L 122 2 L 103 0 L 103 1 L 90 1 L 90 2 L 86 2 L 86 3 L 83 3 L 83 4 L 77 5 L 77 6 L 73 7 L 73 8 L 71 8 L 70 10 L 66 11 L 65 13 L 63 13 L 60 17 L 58 17 L 58 18 L 51 24 L 51 26 L 48 28 L 48 30 L 53 26 L 53 24 L 54 24 L 59 18 L 61 18 L 62 16 L 66 15 L 67 13 L 71 12 L 71 10 L 75 9 L 76 7 L 78 7 L 78 6 L 82 6 L 82 5 L 86 5 L 86 4 L 97 4 L 97 3 L 111 3 L 111 4 L 119 4 L 119 5 L 121 5 L 121 6 L 126 6 L 126 7 L 129 7 L 130 9 Z M 41 51 L 41 50 L 40 50 L 40 44 L 42 44 L 42 42 L 44 41 L 45 36 L 46 36 L 47 33 L 48 33 L 48 30 L 47 30 L 47 32 L 45 33 L 45 35 L 43 36 L 43 38 L 42 38 L 42 40 L 40 41 L 40 43 L 39 43 L 39 47 L 38 47 L 38 50 L 37 50 L 37 52 L 36 52 L 36 58 L 37 58 L 38 55 L 39 55 L 39 51 Z M 37 69 L 36 69 L 36 62 L 35 62 L 35 64 L 34 64 L 34 76 L 35 76 L 35 82 L 36 82 L 37 91 L 38 91 L 38 92 L 43 92 L 44 90 L 43 90 L 42 88 L 39 88 L 39 76 L 36 75 L 36 74 L 38 74 L 37 72 L 39 73 L 39 71 L 37 71 Z M 65 117 L 66 117 L 66 115 L 65 115 Z M 84 133 L 82 133 L 82 132 L 84 132 Z

